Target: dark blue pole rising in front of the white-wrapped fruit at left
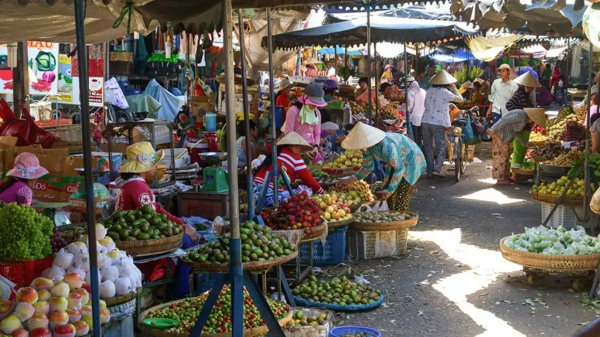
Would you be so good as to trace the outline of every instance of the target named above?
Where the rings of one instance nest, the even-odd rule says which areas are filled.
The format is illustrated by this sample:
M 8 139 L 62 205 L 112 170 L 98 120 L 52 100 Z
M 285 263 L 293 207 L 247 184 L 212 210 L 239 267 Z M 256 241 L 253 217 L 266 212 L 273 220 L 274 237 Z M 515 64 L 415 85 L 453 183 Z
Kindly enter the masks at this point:
M 89 133 L 89 89 L 88 89 L 88 46 L 85 44 L 85 4 L 84 0 L 75 0 L 75 28 L 77 38 L 77 58 L 79 58 L 79 92 L 81 97 L 81 137 L 83 143 L 83 168 L 85 169 L 85 203 L 86 221 L 89 228 L 95 228 L 94 215 L 94 177 L 92 176 L 91 135 Z M 100 296 L 98 293 L 98 251 L 96 249 L 96 231 L 88 231 L 89 242 L 89 272 L 92 293 L 92 323 L 93 335 L 100 333 Z

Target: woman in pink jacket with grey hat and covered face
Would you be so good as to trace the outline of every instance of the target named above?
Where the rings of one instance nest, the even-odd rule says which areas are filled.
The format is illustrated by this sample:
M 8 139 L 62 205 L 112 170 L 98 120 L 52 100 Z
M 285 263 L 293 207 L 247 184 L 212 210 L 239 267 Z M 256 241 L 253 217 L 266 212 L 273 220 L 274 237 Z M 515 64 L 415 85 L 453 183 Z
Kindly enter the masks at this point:
M 321 113 L 317 107 L 327 105 L 323 96 L 325 92 L 318 85 L 308 85 L 304 88 L 304 95 L 298 98 L 298 103 L 287 110 L 285 134 L 292 131 L 298 133 L 313 149 L 305 152 L 313 160 L 319 154 L 321 140 Z

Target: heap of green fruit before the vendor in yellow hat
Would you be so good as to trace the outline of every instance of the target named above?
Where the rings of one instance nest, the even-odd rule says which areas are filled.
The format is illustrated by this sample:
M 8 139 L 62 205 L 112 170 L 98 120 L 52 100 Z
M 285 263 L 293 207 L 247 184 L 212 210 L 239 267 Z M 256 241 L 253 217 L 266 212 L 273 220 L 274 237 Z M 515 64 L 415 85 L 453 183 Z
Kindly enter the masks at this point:
M 115 241 L 158 240 L 183 231 L 181 225 L 167 220 L 164 214 L 154 212 L 150 205 L 126 212 L 118 210 L 98 224 L 104 225 L 108 231 L 106 235 Z

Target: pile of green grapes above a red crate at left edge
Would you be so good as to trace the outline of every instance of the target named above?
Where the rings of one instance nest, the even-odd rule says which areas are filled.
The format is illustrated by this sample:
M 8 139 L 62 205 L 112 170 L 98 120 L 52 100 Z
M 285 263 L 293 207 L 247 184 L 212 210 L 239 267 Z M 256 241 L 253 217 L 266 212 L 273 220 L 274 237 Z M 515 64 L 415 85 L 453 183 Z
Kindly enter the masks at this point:
M 29 206 L 0 202 L 0 260 L 39 260 L 52 254 L 50 218 Z

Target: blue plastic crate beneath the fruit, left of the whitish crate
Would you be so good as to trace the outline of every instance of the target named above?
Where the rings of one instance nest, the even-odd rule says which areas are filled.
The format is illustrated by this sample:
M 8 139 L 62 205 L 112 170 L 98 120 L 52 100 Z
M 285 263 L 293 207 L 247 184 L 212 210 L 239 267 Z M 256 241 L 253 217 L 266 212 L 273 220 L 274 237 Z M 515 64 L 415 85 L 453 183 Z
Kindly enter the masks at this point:
M 346 260 L 346 232 L 348 226 L 335 228 L 327 234 L 325 246 L 321 240 L 305 242 L 300 245 L 298 258 L 301 264 L 308 263 L 308 245 L 313 245 L 313 265 L 330 266 L 343 263 Z

